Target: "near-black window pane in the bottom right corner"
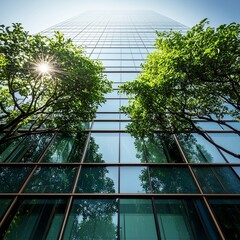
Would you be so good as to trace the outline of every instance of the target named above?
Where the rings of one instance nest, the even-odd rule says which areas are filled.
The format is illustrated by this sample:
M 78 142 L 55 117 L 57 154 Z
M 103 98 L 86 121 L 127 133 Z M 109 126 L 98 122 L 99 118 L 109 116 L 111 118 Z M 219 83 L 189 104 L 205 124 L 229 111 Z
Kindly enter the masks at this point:
M 240 200 L 211 199 L 210 206 L 226 239 L 240 239 Z

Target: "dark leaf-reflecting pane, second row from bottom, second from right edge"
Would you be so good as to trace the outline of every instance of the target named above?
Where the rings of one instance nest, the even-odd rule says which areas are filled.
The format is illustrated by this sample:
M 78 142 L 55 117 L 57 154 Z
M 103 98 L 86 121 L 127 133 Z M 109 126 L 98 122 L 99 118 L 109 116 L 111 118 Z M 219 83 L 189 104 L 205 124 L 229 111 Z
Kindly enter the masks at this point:
M 150 176 L 154 193 L 199 192 L 187 167 L 150 167 Z

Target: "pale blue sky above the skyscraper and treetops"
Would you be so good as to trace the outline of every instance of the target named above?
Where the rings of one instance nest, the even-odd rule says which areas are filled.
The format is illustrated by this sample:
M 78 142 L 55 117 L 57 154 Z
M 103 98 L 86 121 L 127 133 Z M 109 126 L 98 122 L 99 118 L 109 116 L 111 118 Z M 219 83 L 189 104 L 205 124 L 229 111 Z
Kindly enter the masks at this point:
M 189 27 L 206 17 L 213 27 L 240 23 L 240 0 L 0 0 L 0 24 L 36 33 L 91 9 L 154 10 Z

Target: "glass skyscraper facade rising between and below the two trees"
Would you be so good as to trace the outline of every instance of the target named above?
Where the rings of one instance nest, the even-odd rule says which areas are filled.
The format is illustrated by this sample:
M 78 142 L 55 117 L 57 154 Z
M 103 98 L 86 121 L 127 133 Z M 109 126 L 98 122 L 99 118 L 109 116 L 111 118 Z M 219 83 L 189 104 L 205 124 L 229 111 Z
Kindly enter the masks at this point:
M 114 90 L 82 133 L 0 145 L 1 239 L 240 239 L 239 159 L 194 133 L 139 140 L 126 132 L 118 86 L 139 74 L 155 31 L 170 29 L 187 31 L 154 12 L 125 11 L 87 12 L 42 32 L 83 45 Z M 231 129 L 196 124 L 240 153 Z

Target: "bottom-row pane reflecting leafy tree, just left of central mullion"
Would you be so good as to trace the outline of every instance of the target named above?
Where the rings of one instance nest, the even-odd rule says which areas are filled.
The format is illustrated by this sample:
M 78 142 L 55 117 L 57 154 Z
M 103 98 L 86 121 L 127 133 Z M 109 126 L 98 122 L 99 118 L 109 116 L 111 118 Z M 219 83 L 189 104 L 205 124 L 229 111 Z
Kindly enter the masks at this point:
M 64 231 L 69 239 L 117 239 L 116 199 L 76 199 Z

